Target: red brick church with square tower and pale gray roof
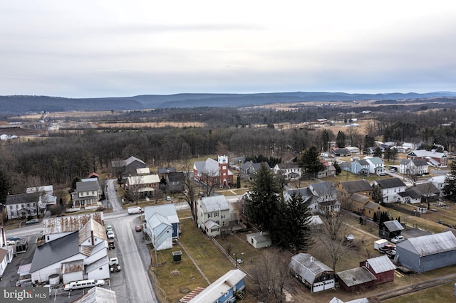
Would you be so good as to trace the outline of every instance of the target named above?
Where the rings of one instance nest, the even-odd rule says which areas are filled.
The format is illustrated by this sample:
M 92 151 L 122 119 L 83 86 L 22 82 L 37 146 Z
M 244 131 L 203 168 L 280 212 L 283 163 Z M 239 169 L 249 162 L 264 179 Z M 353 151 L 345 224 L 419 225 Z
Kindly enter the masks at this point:
M 228 186 L 233 182 L 233 173 L 229 170 L 228 156 L 218 156 L 217 161 L 208 158 L 193 164 L 193 178 L 196 181 L 214 186 Z

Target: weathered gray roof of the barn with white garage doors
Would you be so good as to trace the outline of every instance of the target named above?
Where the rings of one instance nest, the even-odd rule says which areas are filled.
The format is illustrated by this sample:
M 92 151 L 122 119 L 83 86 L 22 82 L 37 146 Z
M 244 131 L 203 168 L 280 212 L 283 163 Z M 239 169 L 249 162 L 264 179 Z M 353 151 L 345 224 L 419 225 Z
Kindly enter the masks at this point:
M 311 284 L 314 283 L 316 276 L 322 272 L 333 272 L 330 267 L 316 260 L 308 253 L 299 253 L 291 257 L 289 267 Z

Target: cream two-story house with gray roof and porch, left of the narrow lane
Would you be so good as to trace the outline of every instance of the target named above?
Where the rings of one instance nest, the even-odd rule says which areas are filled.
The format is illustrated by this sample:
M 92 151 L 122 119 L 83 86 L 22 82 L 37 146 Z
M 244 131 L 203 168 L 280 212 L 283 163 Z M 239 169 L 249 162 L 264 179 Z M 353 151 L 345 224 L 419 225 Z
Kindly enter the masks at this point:
M 76 182 L 76 190 L 72 193 L 73 211 L 95 209 L 101 205 L 101 187 L 97 179 Z

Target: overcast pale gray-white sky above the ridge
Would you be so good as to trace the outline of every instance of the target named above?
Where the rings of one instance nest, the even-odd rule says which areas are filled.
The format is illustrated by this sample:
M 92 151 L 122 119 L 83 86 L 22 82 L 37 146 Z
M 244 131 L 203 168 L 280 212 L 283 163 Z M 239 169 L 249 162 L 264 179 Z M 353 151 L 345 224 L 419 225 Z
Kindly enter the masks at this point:
M 0 95 L 456 91 L 456 1 L 0 4 Z

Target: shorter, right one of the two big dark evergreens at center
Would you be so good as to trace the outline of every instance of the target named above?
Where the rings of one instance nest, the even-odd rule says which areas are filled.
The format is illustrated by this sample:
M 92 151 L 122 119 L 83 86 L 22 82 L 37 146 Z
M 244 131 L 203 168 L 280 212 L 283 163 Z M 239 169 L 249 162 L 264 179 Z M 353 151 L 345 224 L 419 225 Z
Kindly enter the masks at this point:
M 276 216 L 279 219 L 276 228 L 281 231 L 275 233 L 274 243 L 284 249 L 293 248 L 294 253 L 307 251 L 312 242 L 309 225 L 312 215 L 301 193 L 291 193 L 289 201 L 282 205 L 280 216 Z

